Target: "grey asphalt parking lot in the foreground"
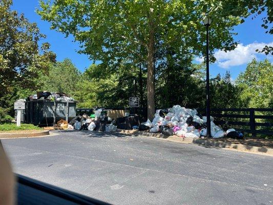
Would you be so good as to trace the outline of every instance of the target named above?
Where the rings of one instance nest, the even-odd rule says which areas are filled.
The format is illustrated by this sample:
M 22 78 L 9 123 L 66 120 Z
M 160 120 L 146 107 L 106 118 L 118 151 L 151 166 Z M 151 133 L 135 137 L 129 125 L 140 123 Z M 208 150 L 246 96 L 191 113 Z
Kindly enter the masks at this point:
M 2 139 L 14 172 L 113 204 L 273 204 L 273 157 L 91 131 Z

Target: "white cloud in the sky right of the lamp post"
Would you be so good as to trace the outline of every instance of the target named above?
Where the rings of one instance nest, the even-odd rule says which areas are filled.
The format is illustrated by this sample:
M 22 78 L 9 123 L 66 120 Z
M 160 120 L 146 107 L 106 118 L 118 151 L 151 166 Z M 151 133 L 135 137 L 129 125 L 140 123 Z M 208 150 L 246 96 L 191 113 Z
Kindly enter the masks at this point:
M 257 58 L 257 55 L 265 55 L 264 53 L 256 52 L 256 49 L 261 50 L 266 45 L 273 46 L 273 42 L 268 44 L 255 42 L 246 46 L 238 44 L 236 49 L 228 52 L 218 50 L 214 54 L 217 60 L 216 65 L 221 68 L 229 68 L 249 63 L 253 58 Z M 196 58 L 195 60 L 202 63 L 204 58 Z

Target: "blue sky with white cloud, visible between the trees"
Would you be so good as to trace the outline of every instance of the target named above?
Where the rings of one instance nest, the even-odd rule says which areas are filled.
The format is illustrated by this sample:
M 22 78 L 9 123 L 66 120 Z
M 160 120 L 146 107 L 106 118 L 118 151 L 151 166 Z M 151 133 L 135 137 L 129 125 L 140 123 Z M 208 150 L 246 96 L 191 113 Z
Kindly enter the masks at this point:
M 18 13 L 24 13 L 30 22 L 37 23 L 41 33 L 47 35 L 45 42 L 51 44 L 51 50 L 57 54 L 58 61 L 68 57 L 72 59 L 80 71 L 84 71 L 88 68 L 93 61 L 90 60 L 87 55 L 77 53 L 79 44 L 73 42 L 72 36 L 65 38 L 64 34 L 50 30 L 50 24 L 41 20 L 40 16 L 36 14 L 35 9 L 38 7 L 38 0 L 13 0 L 12 9 L 17 10 Z M 261 27 L 261 18 L 263 16 L 264 15 L 259 15 L 254 20 L 248 17 L 245 23 L 235 27 L 234 32 L 237 32 L 238 35 L 234 38 L 240 42 L 240 45 L 229 53 L 216 51 L 215 55 L 218 61 L 210 66 L 210 74 L 212 77 L 218 73 L 224 74 L 228 70 L 232 78 L 235 79 L 240 72 L 245 70 L 246 64 L 254 57 L 259 60 L 268 58 L 272 62 L 272 56 L 265 56 L 264 54 L 255 52 L 257 48 L 262 48 L 265 44 L 273 46 L 272 36 L 266 34 L 265 30 Z

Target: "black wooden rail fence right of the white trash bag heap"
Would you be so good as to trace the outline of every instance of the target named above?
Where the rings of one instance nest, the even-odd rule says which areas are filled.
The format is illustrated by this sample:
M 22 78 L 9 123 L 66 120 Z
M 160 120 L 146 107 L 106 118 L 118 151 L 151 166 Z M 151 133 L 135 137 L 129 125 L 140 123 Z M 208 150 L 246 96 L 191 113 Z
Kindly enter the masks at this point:
M 204 110 L 199 110 L 204 111 Z M 226 114 L 223 112 L 236 112 L 236 114 Z M 238 113 L 247 114 L 238 114 Z M 270 114 L 255 114 L 255 112 L 270 112 Z M 222 114 L 223 113 L 223 114 Z M 235 125 L 235 126 L 247 126 L 249 129 L 238 129 L 240 131 L 250 133 L 253 137 L 256 134 L 273 135 L 273 130 L 269 130 L 273 127 L 272 122 L 256 122 L 256 119 L 273 119 L 273 108 L 215 108 L 211 109 L 211 115 L 215 117 L 215 123 L 218 125 Z M 235 120 L 226 120 L 226 118 L 235 118 Z M 240 121 L 237 119 L 245 118 L 247 121 Z M 257 130 L 257 127 L 266 127 L 268 130 Z

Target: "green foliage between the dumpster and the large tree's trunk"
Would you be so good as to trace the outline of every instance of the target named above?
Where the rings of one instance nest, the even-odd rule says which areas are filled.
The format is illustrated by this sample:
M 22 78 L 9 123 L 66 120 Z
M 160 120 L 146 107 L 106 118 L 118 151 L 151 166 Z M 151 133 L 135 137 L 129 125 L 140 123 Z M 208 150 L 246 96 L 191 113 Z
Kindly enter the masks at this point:
M 93 64 L 82 74 L 83 80 L 78 82 L 74 92 L 78 107 L 128 107 L 129 97 L 134 96 L 138 68 L 120 64 L 115 73 L 100 73 L 101 69 L 101 65 Z

